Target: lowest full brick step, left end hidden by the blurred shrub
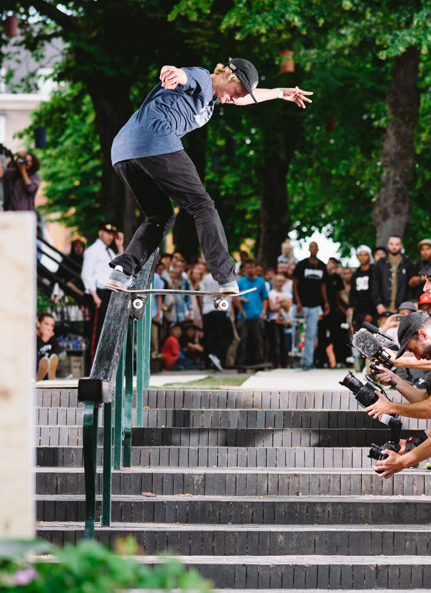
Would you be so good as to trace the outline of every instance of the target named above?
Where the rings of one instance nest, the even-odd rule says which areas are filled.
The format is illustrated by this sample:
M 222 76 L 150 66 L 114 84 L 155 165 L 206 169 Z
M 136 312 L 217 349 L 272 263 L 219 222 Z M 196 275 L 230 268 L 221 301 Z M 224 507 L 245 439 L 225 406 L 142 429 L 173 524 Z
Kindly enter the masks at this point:
M 82 528 L 82 533 L 84 528 Z M 64 532 L 66 533 L 66 532 Z M 219 589 L 425 589 L 429 556 L 176 556 Z M 135 556 L 149 568 L 164 557 Z

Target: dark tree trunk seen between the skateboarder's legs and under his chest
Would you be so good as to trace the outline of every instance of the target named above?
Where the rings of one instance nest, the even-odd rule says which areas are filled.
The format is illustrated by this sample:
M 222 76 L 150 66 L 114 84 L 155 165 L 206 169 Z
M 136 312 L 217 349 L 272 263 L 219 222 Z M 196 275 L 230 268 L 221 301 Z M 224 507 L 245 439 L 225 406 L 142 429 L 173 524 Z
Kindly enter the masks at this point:
M 205 179 L 206 170 L 207 136 L 208 130 L 206 126 L 199 127 L 197 130 L 193 130 L 193 132 L 187 134 L 186 152 L 193 161 L 202 183 Z M 184 144 L 186 143 L 184 142 Z M 194 219 L 184 208 L 180 208 L 180 212 L 178 212 L 175 218 L 173 238 L 175 250 L 181 253 L 184 259 L 186 259 L 186 262 L 190 262 L 192 256 L 199 254 L 200 246 Z

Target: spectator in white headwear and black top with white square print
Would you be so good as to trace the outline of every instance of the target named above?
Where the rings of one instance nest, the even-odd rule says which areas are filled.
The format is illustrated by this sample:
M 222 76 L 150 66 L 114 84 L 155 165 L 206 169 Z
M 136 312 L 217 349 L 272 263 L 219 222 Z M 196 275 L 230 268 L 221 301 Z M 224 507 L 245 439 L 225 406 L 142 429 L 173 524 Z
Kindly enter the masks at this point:
M 356 250 L 360 267 L 353 272 L 349 293 L 347 318 L 352 319 L 355 331 L 359 331 L 364 321 L 373 323 L 376 308 L 372 298 L 373 257 L 371 249 L 360 245 Z

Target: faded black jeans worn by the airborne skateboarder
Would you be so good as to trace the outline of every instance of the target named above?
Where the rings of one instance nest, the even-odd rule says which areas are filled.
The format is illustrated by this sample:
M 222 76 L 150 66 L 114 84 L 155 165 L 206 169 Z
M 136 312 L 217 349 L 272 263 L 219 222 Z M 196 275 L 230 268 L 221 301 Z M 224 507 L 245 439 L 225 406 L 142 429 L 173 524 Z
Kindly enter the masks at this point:
M 111 267 L 123 266 L 128 274 L 139 272 L 174 226 L 172 199 L 193 216 L 202 253 L 213 279 L 221 284 L 235 280 L 235 264 L 229 255 L 220 217 L 186 152 L 180 150 L 120 161 L 114 169 L 136 197 L 147 218 L 124 253 L 112 260 Z

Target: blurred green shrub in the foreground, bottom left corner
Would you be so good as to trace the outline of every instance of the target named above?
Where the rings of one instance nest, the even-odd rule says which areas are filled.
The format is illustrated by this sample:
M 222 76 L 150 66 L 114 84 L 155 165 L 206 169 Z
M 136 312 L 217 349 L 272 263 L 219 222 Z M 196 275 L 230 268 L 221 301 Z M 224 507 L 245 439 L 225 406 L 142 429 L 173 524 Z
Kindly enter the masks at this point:
M 56 557 L 31 562 L 29 554 L 46 550 L 46 544 L 40 542 L 0 541 L 0 591 L 114 593 L 121 589 L 209 589 L 209 583 L 196 570 L 186 572 L 175 559 L 148 568 L 94 541 L 83 541 L 76 547 L 56 550 Z M 133 540 L 126 540 L 122 553 L 136 553 Z

